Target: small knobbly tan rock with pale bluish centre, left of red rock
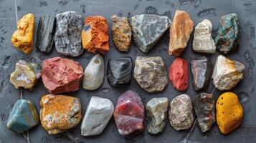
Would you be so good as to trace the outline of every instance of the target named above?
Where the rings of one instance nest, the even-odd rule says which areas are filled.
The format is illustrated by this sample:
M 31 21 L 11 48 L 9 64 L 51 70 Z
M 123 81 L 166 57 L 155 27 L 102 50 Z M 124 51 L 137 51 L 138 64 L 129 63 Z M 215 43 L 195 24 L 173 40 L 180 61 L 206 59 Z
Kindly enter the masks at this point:
M 15 71 L 10 75 L 10 82 L 16 89 L 23 87 L 24 89 L 32 89 L 41 77 L 41 66 L 24 60 L 16 63 Z

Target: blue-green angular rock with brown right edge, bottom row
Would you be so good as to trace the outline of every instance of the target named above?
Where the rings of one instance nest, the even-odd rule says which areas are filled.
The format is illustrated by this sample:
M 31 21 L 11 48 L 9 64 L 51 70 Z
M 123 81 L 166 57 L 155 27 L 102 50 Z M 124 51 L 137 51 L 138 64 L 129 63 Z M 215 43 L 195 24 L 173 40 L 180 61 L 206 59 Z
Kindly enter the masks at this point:
M 11 109 L 7 127 L 21 134 L 37 125 L 38 120 L 39 118 L 34 104 L 27 99 L 19 99 Z

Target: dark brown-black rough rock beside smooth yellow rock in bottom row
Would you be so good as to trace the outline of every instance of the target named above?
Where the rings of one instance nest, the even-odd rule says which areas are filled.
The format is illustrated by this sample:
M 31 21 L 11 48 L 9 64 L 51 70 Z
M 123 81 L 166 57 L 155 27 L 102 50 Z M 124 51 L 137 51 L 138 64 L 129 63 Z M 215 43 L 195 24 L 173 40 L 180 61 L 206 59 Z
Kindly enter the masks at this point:
M 194 111 L 202 132 L 207 132 L 215 123 L 215 103 L 212 94 L 202 92 L 196 95 Z

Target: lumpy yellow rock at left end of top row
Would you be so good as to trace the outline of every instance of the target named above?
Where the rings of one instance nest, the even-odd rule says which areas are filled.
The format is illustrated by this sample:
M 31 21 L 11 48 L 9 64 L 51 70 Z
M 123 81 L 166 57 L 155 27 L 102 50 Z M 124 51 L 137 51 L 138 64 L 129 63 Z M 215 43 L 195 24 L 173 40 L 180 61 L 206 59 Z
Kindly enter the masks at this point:
M 25 54 L 33 49 L 34 14 L 27 14 L 18 21 L 17 29 L 11 36 L 11 43 Z

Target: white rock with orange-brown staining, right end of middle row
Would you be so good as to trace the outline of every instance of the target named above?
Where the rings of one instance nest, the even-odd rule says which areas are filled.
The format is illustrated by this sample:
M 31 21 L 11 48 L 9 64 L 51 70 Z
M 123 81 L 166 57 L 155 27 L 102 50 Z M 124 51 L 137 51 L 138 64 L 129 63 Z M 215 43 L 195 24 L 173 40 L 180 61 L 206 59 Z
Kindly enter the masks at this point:
M 212 73 L 212 82 L 219 90 L 232 89 L 242 80 L 244 71 L 244 64 L 219 55 Z

